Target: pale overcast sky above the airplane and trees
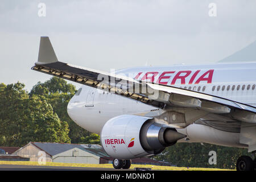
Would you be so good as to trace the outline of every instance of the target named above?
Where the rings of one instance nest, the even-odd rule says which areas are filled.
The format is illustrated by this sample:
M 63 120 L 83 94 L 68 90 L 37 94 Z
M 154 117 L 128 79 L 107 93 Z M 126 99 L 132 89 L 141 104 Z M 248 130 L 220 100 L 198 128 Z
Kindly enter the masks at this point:
M 102 71 L 213 63 L 256 40 L 255 7 L 255 0 L 2 0 L 1 82 L 20 81 L 29 91 L 51 78 L 30 69 L 40 36 L 49 36 L 60 61 Z

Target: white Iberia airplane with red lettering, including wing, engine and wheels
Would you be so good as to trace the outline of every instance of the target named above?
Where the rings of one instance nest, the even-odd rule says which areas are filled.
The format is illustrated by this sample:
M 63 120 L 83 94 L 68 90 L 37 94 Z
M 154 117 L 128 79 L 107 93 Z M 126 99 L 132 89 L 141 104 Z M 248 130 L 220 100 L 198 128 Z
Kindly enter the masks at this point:
M 77 125 L 100 134 L 113 167 L 175 143 L 210 143 L 256 153 L 256 62 L 136 67 L 103 72 L 63 63 L 47 36 L 31 68 L 82 84 L 67 106 Z M 256 160 L 237 159 L 238 171 Z

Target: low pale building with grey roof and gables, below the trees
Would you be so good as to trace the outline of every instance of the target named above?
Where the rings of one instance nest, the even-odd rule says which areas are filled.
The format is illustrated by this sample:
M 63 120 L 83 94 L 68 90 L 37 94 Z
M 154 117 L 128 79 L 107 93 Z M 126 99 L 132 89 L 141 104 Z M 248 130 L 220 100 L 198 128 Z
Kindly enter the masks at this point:
M 13 154 L 38 162 L 40 152 L 45 152 L 46 162 L 100 164 L 100 158 L 108 156 L 98 144 L 70 144 L 30 142 Z

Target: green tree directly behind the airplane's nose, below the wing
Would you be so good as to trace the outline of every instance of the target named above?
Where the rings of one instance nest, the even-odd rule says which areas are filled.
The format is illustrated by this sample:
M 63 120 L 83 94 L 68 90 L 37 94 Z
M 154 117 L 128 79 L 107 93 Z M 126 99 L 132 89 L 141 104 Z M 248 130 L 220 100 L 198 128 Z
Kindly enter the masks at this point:
M 75 92 L 74 85 L 67 84 L 67 81 L 63 78 L 52 77 L 44 83 L 38 82 L 38 84 L 33 86 L 29 95 L 30 97 L 33 95 L 39 96 L 42 100 L 46 100 L 48 104 L 51 104 L 53 111 L 59 116 L 61 121 L 68 123 L 68 135 L 72 143 L 98 143 L 99 137 L 92 140 L 85 139 L 86 137 L 95 138 L 96 135 L 82 129 L 68 116 L 68 102 Z

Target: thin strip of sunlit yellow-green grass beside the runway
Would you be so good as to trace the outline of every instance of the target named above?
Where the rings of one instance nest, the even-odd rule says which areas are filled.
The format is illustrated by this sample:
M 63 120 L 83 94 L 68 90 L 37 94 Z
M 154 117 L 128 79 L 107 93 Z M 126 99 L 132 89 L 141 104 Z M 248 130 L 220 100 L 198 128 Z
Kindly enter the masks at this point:
M 46 165 L 40 165 L 38 162 L 23 162 L 23 161 L 0 161 L 1 164 L 12 165 L 28 165 L 28 166 L 60 166 L 60 167 L 92 167 L 92 168 L 113 168 L 112 164 L 77 164 L 77 163 L 53 163 L 47 162 Z M 187 167 L 171 167 L 171 166 L 152 166 L 152 165 L 137 165 L 132 164 L 130 169 L 136 167 L 151 168 L 152 170 L 168 170 L 168 171 L 233 171 L 232 169 L 217 169 L 217 168 L 187 168 Z

